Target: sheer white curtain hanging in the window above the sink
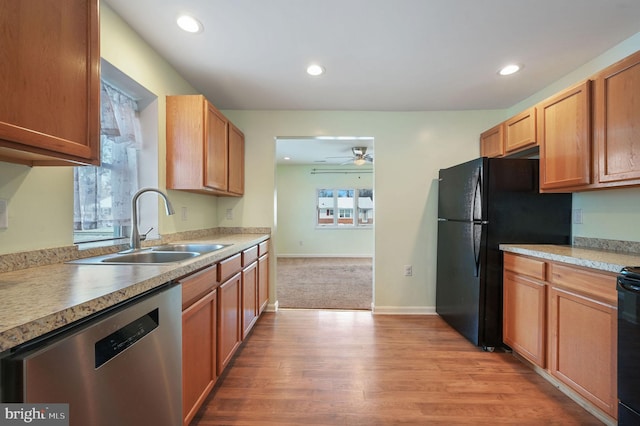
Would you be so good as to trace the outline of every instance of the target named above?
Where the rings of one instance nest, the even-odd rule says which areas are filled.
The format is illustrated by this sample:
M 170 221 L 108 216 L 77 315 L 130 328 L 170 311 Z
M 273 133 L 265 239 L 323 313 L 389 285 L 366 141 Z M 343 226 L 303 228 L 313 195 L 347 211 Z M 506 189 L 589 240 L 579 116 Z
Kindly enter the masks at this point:
M 136 102 L 104 81 L 101 86 L 101 166 L 74 169 L 74 230 L 113 228 L 118 236 L 131 226 L 142 136 Z

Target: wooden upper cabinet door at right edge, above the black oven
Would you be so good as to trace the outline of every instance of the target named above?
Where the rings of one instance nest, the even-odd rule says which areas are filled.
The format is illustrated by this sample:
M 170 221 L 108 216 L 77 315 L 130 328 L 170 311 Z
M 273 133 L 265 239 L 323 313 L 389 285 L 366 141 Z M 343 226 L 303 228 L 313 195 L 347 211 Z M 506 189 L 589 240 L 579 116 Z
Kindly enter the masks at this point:
M 594 84 L 598 180 L 640 183 L 640 52 L 605 69 Z

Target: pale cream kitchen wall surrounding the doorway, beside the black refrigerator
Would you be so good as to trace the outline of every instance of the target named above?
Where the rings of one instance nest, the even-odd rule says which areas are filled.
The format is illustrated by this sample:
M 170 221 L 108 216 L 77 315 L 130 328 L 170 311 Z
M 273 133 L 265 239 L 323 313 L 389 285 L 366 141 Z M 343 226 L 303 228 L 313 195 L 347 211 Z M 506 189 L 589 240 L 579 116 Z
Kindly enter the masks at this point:
M 376 152 L 376 311 L 432 311 L 438 170 L 476 158 L 478 135 L 501 113 L 225 111 L 245 133 L 246 192 L 239 200 L 218 200 L 219 217 L 224 217 L 227 208 L 234 210 L 234 220 L 221 220 L 221 224 L 237 221 L 249 226 L 274 226 L 277 248 L 275 138 L 372 136 Z M 403 265 L 408 264 L 413 265 L 413 277 L 403 275 Z

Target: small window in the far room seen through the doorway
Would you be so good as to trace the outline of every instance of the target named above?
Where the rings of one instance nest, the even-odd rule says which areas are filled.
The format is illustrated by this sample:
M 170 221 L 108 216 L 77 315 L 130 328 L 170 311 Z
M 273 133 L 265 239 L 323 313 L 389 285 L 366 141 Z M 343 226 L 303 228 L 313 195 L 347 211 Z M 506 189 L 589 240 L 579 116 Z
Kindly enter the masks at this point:
M 318 227 L 353 228 L 373 225 L 372 189 L 318 189 Z M 334 212 L 338 214 L 334 214 Z

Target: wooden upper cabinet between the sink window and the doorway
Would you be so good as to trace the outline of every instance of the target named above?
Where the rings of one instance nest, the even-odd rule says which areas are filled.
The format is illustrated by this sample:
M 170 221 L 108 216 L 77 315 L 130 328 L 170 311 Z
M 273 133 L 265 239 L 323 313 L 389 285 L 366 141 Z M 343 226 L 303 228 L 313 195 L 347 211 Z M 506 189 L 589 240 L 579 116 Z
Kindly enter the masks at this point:
M 244 193 L 244 135 L 202 95 L 167 96 L 167 189 Z

